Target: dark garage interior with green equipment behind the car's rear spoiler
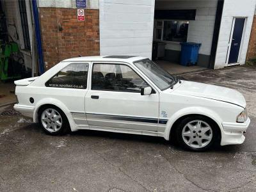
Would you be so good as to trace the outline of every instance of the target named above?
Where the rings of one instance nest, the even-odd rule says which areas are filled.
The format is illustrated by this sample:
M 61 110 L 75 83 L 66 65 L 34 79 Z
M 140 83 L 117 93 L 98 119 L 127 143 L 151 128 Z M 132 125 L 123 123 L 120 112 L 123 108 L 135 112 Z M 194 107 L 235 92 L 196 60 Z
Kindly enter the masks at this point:
M 13 81 L 38 74 L 33 26 L 32 1 L 0 1 L 0 104 L 15 100 Z

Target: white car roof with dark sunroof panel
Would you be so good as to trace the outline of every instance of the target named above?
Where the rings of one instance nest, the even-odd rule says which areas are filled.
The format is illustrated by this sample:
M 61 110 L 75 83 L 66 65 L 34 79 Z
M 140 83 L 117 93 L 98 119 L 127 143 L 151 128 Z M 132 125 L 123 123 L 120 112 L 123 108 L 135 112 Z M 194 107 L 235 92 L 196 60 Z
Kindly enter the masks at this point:
M 71 61 L 116 61 L 116 62 L 127 62 L 132 63 L 138 60 L 145 60 L 147 58 L 141 56 L 88 56 L 88 57 L 79 57 L 79 58 L 70 58 L 63 60 L 61 62 L 71 62 Z

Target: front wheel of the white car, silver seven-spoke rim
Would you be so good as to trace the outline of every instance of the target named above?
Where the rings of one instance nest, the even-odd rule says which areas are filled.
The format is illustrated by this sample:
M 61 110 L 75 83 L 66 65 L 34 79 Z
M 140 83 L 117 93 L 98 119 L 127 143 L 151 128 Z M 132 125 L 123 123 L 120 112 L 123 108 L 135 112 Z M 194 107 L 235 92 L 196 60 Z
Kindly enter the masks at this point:
M 218 129 L 209 118 L 189 116 L 178 125 L 176 138 L 183 148 L 200 152 L 216 142 Z

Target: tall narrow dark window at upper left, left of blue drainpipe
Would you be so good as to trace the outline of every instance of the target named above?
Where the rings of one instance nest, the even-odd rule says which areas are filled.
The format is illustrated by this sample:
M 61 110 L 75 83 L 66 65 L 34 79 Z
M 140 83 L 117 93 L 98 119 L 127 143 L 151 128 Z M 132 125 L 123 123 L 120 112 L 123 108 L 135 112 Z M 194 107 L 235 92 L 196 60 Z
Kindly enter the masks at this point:
M 19 0 L 19 10 L 20 10 L 22 34 L 24 39 L 24 48 L 30 50 L 31 46 L 30 46 L 30 40 L 29 40 L 28 17 L 27 17 L 25 0 Z

